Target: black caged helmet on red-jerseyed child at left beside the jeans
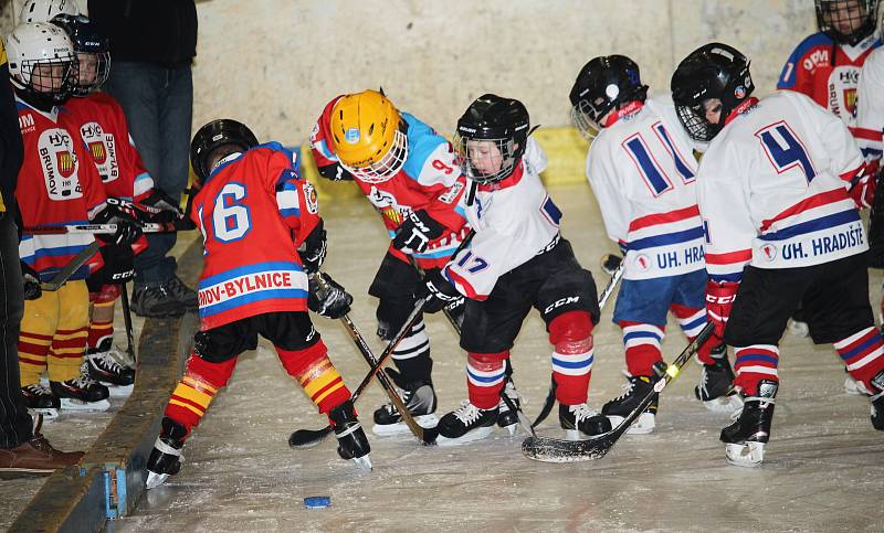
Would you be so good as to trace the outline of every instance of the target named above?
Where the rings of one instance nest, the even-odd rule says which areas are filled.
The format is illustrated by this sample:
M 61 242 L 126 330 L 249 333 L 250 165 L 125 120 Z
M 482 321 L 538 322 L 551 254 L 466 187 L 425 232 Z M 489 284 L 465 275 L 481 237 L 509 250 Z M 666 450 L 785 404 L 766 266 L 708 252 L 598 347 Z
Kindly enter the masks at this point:
M 82 14 L 59 14 L 52 19 L 52 23 L 61 28 L 71 38 L 80 58 L 80 71 L 76 76 L 72 94 L 74 96 L 86 96 L 93 90 L 101 87 L 107 81 L 107 74 L 110 68 L 110 45 L 104 35 L 98 32 L 95 23 L 91 22 Z M 94 55 L 94 65 L 88 62 L 83 62 L 80 57 L 81 54 Z M 94 67 L 95 76 L 91 81 L 84 81 L 84 74 L 87 70 Z

